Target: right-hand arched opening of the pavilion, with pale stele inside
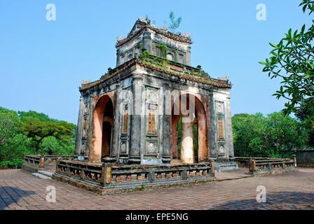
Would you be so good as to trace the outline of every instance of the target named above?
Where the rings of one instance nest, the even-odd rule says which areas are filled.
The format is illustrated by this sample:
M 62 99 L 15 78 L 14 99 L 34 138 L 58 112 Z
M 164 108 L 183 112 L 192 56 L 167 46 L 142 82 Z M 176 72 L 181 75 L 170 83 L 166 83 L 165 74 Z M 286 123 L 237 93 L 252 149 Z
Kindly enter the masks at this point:
M 192 117 L 187 119 L 184 111 L 189 110 L 189 106 L 193 106 L 194 110 L 191 110 Z M 172 160 L 184 163 L 207 161 L 206 119 L 204 106 L 194 95 L 184 94 L 175 100 L 171 115 Z

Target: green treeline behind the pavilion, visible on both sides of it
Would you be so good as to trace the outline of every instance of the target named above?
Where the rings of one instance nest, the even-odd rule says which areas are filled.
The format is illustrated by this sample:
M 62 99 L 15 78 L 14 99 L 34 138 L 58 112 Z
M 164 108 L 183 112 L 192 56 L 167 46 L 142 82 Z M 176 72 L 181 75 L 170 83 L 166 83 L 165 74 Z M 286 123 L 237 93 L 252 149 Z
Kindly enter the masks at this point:
M 268 116 L 235 114 L 232 125 L 235 156 L 283 158 L 291 156 L 294 149 L 314 145 L 313 127 L 281 112 Z M 0 166 L 20 165 L 25 153 L 73 155 L 75 135 L 74 124 L 36 111 L 16 112 L 0 107 Z M 197 148 L 197 141 L 194 145 Z

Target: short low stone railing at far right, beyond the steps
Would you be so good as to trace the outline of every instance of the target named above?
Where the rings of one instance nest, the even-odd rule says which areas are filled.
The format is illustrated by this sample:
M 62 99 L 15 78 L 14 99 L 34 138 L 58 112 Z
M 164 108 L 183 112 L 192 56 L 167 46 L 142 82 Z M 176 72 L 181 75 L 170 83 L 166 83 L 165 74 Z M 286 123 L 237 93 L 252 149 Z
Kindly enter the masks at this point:
M 250 160 L 249 170 L 251 174 L 280 173 L 296 169 L 294 159 L 269 159 L 269 160 Z

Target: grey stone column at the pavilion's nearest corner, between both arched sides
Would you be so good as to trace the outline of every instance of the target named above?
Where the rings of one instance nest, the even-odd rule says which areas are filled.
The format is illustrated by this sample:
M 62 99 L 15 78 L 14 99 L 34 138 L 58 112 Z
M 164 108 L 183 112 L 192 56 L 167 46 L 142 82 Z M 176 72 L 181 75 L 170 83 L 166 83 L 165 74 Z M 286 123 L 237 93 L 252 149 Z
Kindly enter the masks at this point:
M 141 113 L 142 113 L 142 76 L 133 76 L 133 108 L 130 116 L 130 159 L 140 162 L 141 158 Z M 138 161 L 137 161 L 138 160 Z

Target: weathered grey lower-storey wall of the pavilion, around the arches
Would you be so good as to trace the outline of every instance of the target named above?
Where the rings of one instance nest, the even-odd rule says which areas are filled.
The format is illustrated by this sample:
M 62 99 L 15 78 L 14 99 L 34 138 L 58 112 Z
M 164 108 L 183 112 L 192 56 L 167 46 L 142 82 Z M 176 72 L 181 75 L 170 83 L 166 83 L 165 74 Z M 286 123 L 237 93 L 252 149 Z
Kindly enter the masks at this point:
M 199 99 L 205 109 L 206 161 L 228 161 L 233 158 L 233 138 L 230 114 L 230 89 L 196 83 L 184 78 L 171 77 L 161 71 L 152 71 L 143 67 L 134 67 L 121 74 L 121 80 L 114 83 L 102 83 L 92 90 L 82 92 L 78 119 L 76 153 L 89 155 L 95 142 L 95 106 L 104 95 L 110 95 L 114 103 L 114 127 L 112 132 L 111 158 L 118 162 L 136 162 L 142 164 L 163 164 L 172 158 L 169 99 L 165 99 L 165 90 L 177 90 L 179 94 L 192 94 Z M 107 84 L 107 85 L 106 85 Z M 125 98 L 125 92 L 132 100 Z M 151 97 L 153 96 L 153 99 Z M 153 101 L 153 102 L 151 102 Z M 196 105 L 197 106 L 197 105 Z M 198 106 L 200 107 L 200 106 Z M 126 109 L 127 108 L 127 109 Z M 127 130 L 123 133 L 123 114 L 128 110 Z M 148 133 L 149 110 L 156 111 L 156 132 Z M 198 110 L 198 109 L 196 109 Z M 222 138 L 219 138 L 221 118 Z M 93 126 L 94 124 L 94 126 Z M 94 134 L 93 134 L 94 133 Z M 200 152 L 202 153 L 202 152 Z M 99 157 L 99 156 L 98 156 Z

